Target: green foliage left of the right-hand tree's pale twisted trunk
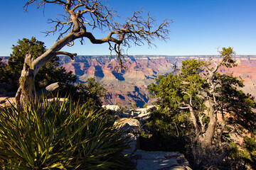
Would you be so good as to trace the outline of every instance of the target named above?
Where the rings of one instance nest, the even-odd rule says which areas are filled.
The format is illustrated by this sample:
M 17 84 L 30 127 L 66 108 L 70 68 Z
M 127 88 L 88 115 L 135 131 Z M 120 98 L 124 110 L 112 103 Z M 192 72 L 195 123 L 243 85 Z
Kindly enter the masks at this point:
M 151 113 L 147 125 L 159 138 L 171 138 L 174 140 L 173 143 L 178 144 L 193 129 L 189 110 L 181 108 L 190 102 L 190 96 L 193 98 L 196 112 L 199 113 L 205 108 L 203 98 L 198 97 L 199 90 L 206 86 L 205 80 L 200 76 L 203 64 L 205 63 L 197 60 L 183 61 L 181 74 L 159 75 L 156 84 L 148 87 L 151 94 L 159 99 L 156 101 L 158 109 Z M 164 143 L 168 148 L 169 142 Z M 175 148 L 177 147 L 174 146 Z

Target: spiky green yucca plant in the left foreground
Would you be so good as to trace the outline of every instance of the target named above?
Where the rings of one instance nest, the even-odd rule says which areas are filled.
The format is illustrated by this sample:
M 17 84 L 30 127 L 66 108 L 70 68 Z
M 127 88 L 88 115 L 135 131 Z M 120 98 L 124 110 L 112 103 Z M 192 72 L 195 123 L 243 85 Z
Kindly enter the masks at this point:
M 122 169 L 127 142 L 114 118 L 67 98 L 1 108 L 2 169 Z

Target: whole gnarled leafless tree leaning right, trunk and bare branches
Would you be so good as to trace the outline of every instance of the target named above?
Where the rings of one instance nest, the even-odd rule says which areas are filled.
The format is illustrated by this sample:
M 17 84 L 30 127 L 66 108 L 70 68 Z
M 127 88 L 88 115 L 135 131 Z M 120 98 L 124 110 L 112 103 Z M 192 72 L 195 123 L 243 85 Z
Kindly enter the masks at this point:
M 25 10 L 31 4 L 36 4 L 38 7 L 45 7 L 46 4 L 58 4 L 63 6 L 65 11 L 63 11 L 63 18 L 50 20 L 55 26 L 53 26 L 53 30 L 46 32 L 47 35 L 60 33 L 53 46 L 36 60 L 31 57 L 31 52 L 28 51 L 26 54 L 19 79 L 20 86 L 16 94 L 16 103 L 21 106 L 29 98 L 36 98 L 34 79 L 38 70 L 46 62 L 49 62 L 55 55 L 68 55 L 72 59 L 77 55 L 60 51 L 65 45 L 72 46 L 76 39 L 80 39 L 81 44 L 84 38 L 89 39 L 93 44 L 107 42 L 110 45 L 110 52 L 116 55 L 122 67 L 122 47 L 130 47 L 131 43 L 154 45 L 151 42 L 154 38 L 165 40 L 169 35 L 168 26 L 171 21 L 165 20 L 159 26 L 155 26 L 153 17 L 148 16 L 143 19 L 142 12 L 137 11 L 124 24 L 120 24 L 114 21 L 116 13 L 112 8 L 100 0 L 30 0 L 24 6 Z M 105 38 L 98 39 L 88 31 L 88 28 L 90 30 L 95 30 L 95 28 L 108 30 L 109 33 Z

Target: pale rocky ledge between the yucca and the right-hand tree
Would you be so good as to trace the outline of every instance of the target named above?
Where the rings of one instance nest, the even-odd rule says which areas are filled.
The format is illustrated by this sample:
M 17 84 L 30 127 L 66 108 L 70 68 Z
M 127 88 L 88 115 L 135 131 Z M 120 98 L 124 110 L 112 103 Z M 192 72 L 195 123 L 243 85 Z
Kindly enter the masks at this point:
M 108 106 L 110 108 L 110 106 Z M 112 108 L 112 111 L 116 108 Z M 124 150 L 123 154 L 129 157 L 134 163 L 134 169 L 137 170 L 186 170 L 189 167 L 188 160 L 179 152 L 162 151 L 144 151 L 140 149 L 139 132 L 142 130 L 141 123 L 144 122 L 144 116 L 149 114 L 147 111 L 132 112 L 133 114 L 118 112 L 119 118 L 116 120 L 117 127 L 122 128 L 124 136 L 129 139 L 130 149 Z M 135 114 L 137 113 L 137 114 Z M 121 117 L 123 118 L 120 118 Z M 129 117 L 127 118 L 127 115 Z M 124 118 L 126 117 L 126 118 Z M 147 117 L 147 116 L 146 116 Z

